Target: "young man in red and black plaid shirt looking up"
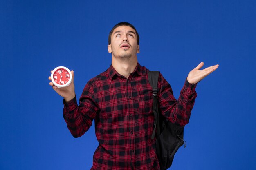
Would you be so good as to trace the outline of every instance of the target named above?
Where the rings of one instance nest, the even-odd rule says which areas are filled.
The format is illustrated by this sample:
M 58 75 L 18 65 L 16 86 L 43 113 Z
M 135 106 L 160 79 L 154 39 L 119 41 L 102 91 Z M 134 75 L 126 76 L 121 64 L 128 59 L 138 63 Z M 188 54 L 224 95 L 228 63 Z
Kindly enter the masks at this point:
M 159 170 L 156 138 L 151 139 L 154 129 L 152 88 L 148 69 L 137 61 L 139 34 L 135 27 L 127 22 L 115 25 L 109 34 L 108 52 L 112 53 L 112 65 L 85 85 L 79 106 L 74 79 L 64 88 L 49 83 L 64 97 L 63 117 L 67 127 L 74 137 L 80 137 L 94 119 L 99 146 L 91 170 Z M 180 126 L 189 122 L 196 84 L 218 68 L 215 65 L 199 70 L 203 65 L 201 62 L 189 73 L 178 100 L 162 74 L 159 75 L 159 107 L 169 121 Z

